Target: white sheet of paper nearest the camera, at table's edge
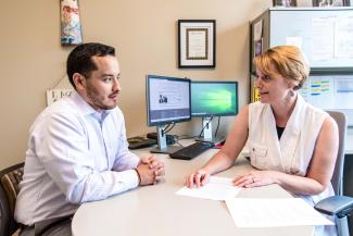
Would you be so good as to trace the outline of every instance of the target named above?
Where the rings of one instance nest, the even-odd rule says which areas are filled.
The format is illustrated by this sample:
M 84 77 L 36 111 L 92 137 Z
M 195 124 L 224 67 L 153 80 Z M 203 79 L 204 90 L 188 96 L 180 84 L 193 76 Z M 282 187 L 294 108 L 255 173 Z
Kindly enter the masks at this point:
M 226 203 L 238 227 L 333 225 L 300 198 L 230 198 Z

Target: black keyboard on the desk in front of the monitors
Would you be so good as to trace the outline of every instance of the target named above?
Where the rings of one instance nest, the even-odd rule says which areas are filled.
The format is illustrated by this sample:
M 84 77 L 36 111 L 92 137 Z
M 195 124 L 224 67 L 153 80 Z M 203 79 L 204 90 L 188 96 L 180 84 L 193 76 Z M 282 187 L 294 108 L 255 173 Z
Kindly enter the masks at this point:
M 182 149 L 171 153 L 171 158 L 174 159 L 182 159 L 182 160 L 191 160 L 194 157 L 198 157 L 205 150 L 210 149 L 213 147 L 213 144 L 211 142 L 194 142 L 192 145 L 189 145 L 187 147 L 184 147 Z

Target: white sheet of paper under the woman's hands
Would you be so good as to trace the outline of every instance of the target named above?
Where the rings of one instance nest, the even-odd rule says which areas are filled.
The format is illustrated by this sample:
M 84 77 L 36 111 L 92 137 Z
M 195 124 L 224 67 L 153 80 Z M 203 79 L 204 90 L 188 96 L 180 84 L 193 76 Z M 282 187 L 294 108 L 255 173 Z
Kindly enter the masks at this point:
M 211 176 L 209 184 L 200 188 L 184 187 L 176 195 L 211 200 L 225 200 L 238 195 L 240 188 L 232 186 L 231 178 Z

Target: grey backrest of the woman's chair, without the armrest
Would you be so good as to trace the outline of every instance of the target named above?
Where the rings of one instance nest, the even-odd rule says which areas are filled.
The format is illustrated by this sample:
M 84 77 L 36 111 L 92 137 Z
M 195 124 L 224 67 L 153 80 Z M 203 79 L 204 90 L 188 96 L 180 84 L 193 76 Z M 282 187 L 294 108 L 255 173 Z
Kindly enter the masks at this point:
M 344 142 L 346 135 L 346 116 L 343 112 L 328 111 L 330 116 L 336 121 L 339 132 L 339 148 L 335 164 L 331 184 L 336 195 L 342 195 L 343 191 L 343 166 L 344 166 Z

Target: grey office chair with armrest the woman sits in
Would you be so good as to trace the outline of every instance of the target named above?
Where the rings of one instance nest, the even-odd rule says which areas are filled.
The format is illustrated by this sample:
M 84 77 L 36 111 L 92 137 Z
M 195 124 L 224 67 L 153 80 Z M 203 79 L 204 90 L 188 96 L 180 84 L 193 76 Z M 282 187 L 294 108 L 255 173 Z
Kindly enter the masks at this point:
M 335 164 L 331 184 L 336 196 L 328 197 L 315 204 L 315 209 L 322 213 L 333 215 L 339 236 L 349 236 L 348 216 L 353 211 L 353 198 L 342 196 L 343 192 L 343 165 L 344 165 L 344 141 L 346 135 L 346 116 L 342 112 L 328 111 L 336 121 L 339 129 L 339 149 Z

